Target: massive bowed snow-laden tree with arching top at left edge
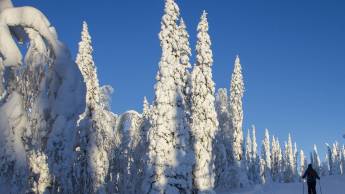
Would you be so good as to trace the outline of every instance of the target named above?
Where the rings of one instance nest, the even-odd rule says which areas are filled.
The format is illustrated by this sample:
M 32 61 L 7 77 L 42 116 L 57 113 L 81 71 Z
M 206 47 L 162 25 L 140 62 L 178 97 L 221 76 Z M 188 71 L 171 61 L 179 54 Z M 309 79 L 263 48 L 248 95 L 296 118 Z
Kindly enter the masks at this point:
M 10 0 L 0 1 L 0 10 L 1 187 L 70 192 L 75 127 L 85 107 L 81 74 L 43 13 Z M 24 60 L 16 43 L 23 41 Z

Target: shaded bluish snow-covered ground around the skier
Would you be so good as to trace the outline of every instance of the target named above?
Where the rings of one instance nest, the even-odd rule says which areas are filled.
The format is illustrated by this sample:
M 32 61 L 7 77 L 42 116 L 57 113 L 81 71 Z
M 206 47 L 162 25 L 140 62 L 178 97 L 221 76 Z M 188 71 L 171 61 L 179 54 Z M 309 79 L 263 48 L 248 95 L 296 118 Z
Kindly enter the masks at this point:
M 320 192 L 320 185 L 322 192 Z M 308 193 L 304 183 L 304 194 Z M 316 185 L 318 194 L 345 194 L 345 176 L 321 177 L 321 182 Z M 217 192 L 219 194 L 303 194 L 302 183 L 272 183 L 257 185 L 247 189 Z

